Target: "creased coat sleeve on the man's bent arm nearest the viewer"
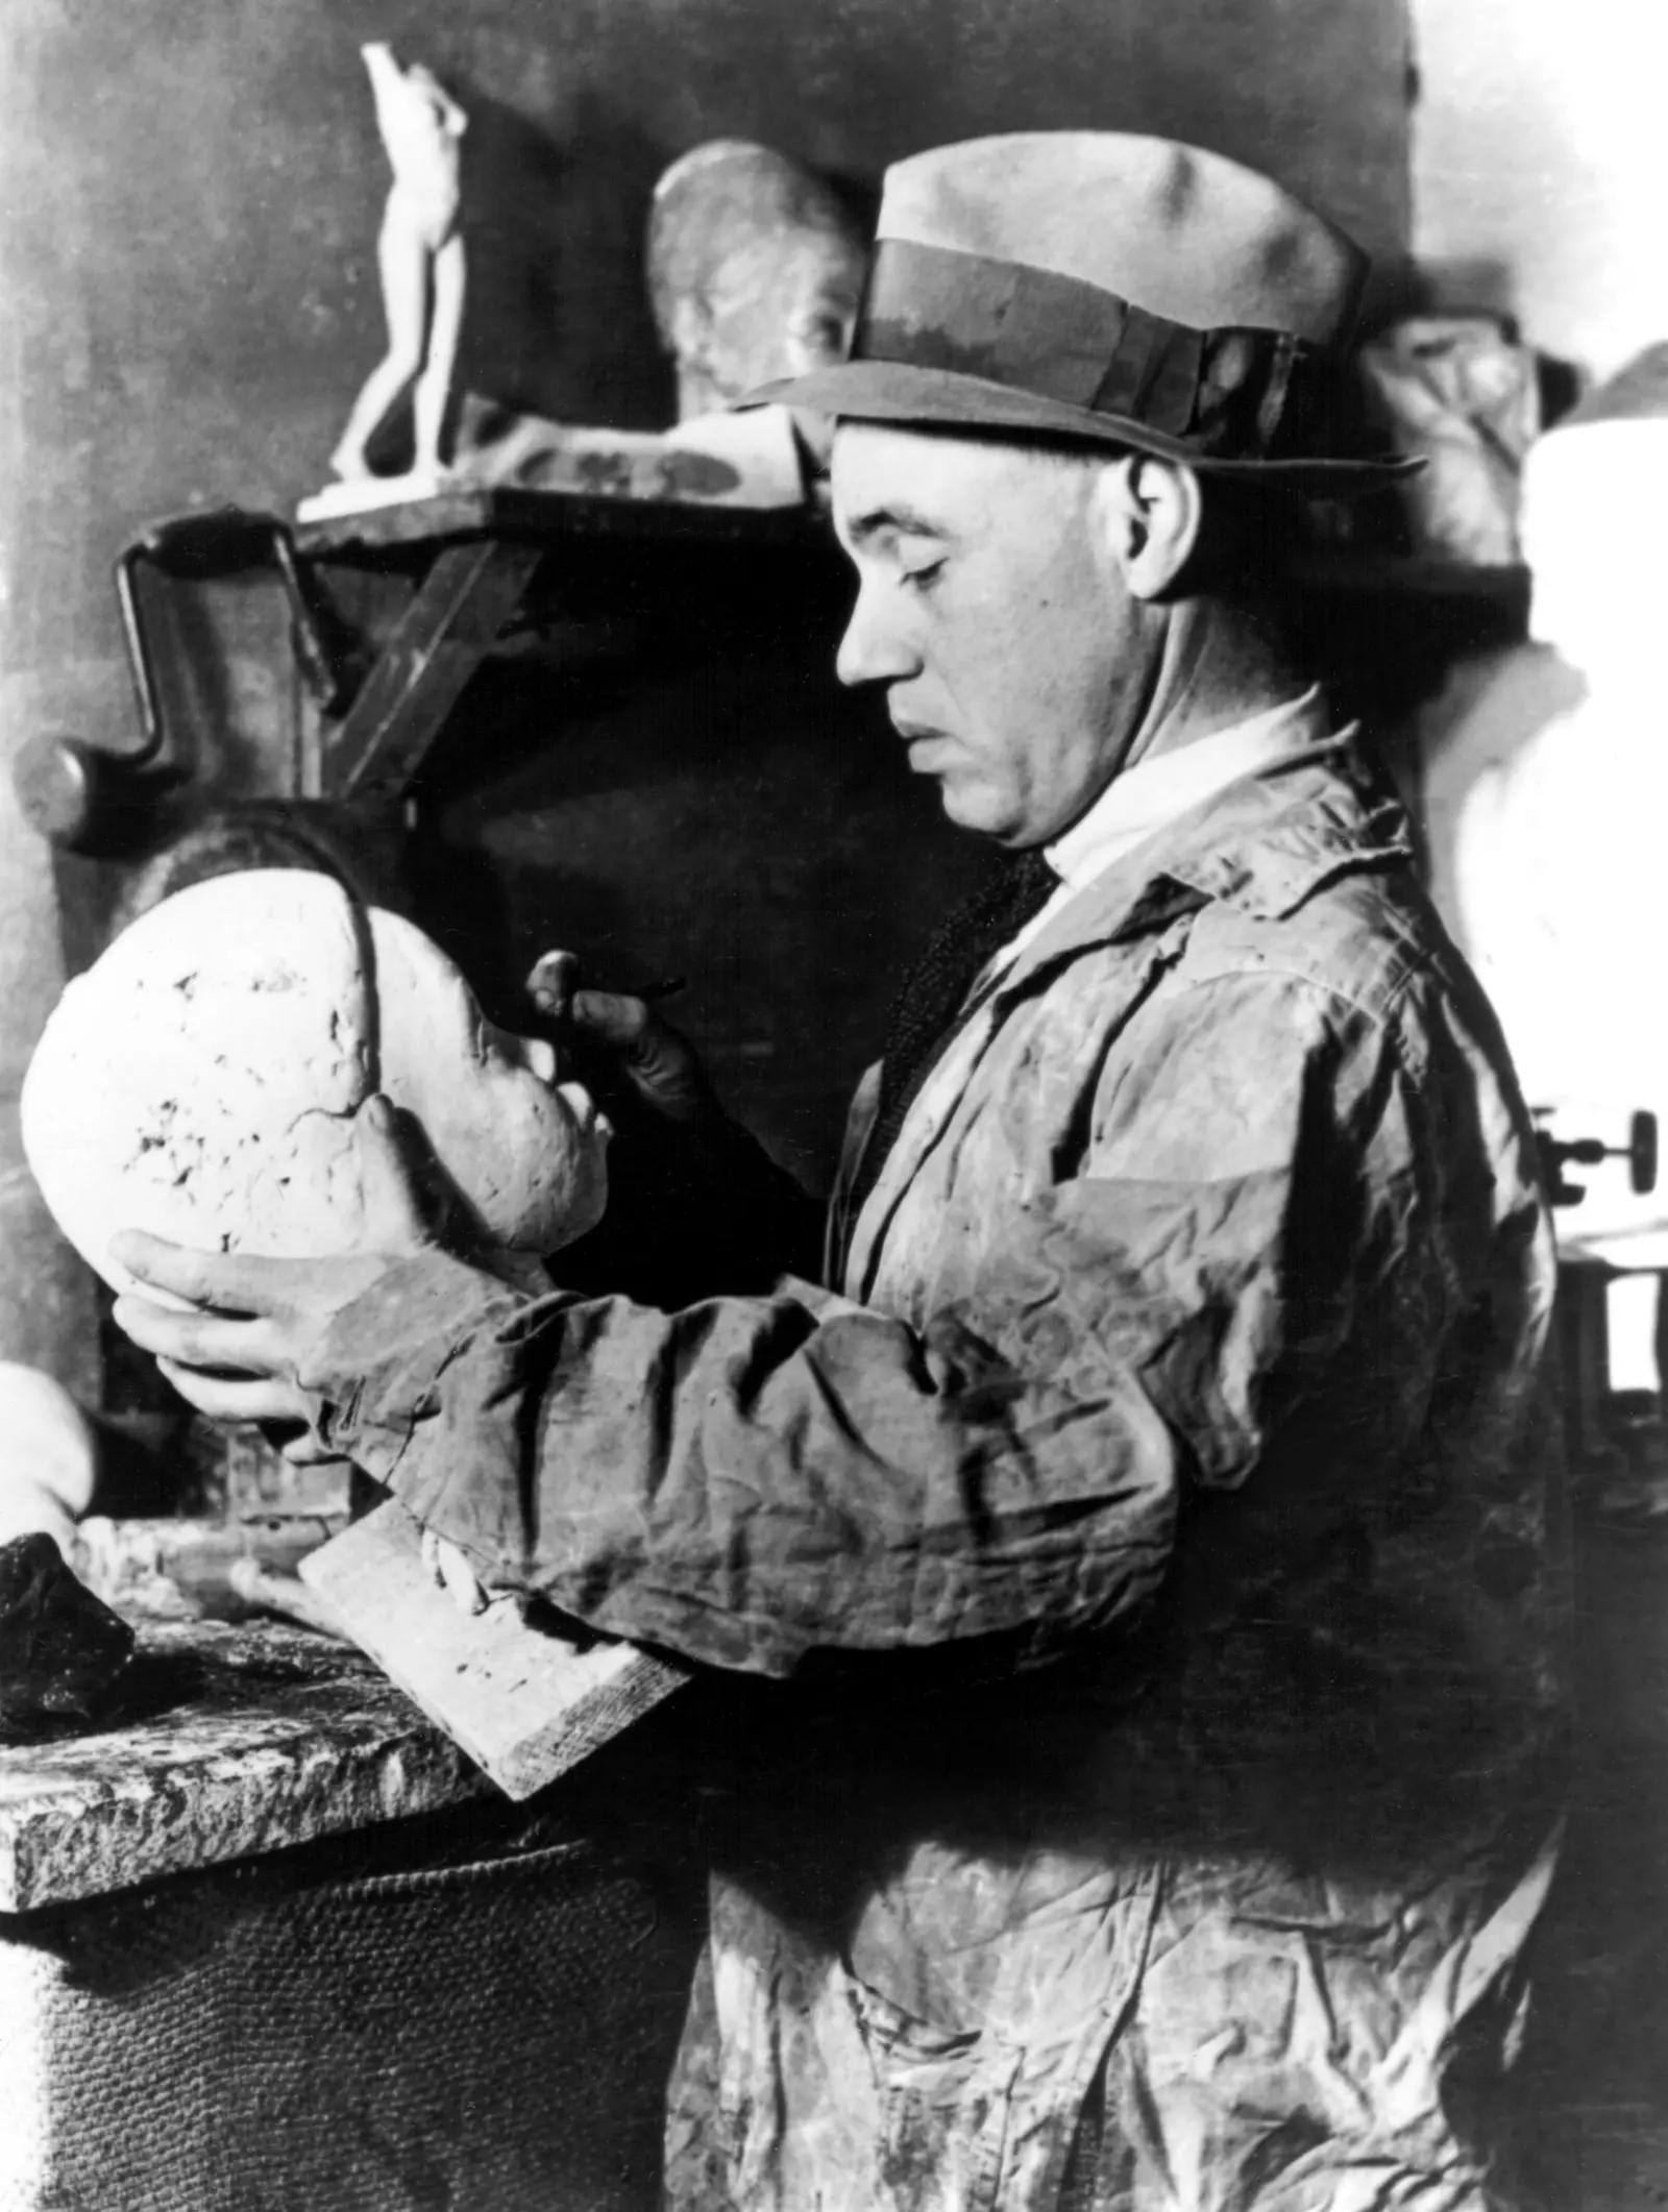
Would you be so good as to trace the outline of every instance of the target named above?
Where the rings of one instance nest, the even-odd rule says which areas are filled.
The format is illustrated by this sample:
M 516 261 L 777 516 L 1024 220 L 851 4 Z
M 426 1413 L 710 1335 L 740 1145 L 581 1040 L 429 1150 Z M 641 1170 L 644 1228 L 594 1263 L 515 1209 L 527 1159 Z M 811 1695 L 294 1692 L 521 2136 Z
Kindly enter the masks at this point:
M 1024 1663 L 1135 1626 L 1184 1489 L 1243 1482 L 1338 1396 L 1387 1281 L 1414 1327 L 1341 1398 L 1418 1418 L 1449 1296 L 1416 1144 L 1380 1031 L 1230 978 L 1137 1018 L 1080 1170 L 925 1327 L 794 1279 L 673 1314 L 524 1301 L 431 1256 L 303 1380 L 489 1579 L 600 1630 L 763 1674 L 967 1639 Z

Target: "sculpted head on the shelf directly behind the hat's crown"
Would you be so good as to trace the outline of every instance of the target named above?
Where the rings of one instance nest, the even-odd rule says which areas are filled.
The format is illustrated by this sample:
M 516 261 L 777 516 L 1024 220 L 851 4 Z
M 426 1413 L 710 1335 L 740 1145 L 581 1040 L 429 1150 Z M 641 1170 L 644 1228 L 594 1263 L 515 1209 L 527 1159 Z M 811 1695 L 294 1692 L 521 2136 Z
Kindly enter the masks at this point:
M 770 146 L 710 139 L 655 186 L 648 296 L 686 422 L 843 361 L 867 243 L 838 195 Z

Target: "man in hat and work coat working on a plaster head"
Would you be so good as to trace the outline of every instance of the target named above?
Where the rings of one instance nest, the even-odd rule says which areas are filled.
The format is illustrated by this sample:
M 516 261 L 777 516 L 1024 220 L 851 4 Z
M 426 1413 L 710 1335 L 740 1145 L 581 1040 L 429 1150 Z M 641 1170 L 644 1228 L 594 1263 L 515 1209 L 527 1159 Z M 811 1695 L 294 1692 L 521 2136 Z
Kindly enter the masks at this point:
M 1153 139 L 892 170 L 854 358 L 790 394 L 841 420 L 838 666 L 1020 858 L 858 1095 L 830 1287 L 527 1301 L 398 1194 L 332 1270 L 126 1248 L 221 1310 L 122 1307 L 197 1405 L 785 1686 L 739 1708 L 673 2205 L 1500 2201 L 1553 1261 L 1489 1009 L 1259 580 L 1263 493 L 1367 480 L 1323 442 L 1358 281 Z M 790 1219 L 642 1006 L 573 1015 Z

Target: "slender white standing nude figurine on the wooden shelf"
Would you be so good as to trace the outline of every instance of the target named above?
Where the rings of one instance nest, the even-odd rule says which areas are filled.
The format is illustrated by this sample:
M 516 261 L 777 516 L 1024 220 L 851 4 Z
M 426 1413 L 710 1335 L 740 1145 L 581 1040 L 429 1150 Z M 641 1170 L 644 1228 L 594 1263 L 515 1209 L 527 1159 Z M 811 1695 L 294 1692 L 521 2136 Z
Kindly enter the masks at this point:
M 347 480 L 369 476 L 365 447 L 416 378 L 411 473 L 438 473 L 462 330 L 465 243 L 458 210 L 460 142 L 469 117 L 420 62 L 400 66 L 387 44 L 361 46 L 361 53 L 376 97 L 376 128 L 394 168 L 376 241 L 387 352 L 365 378 L 330 462 Z

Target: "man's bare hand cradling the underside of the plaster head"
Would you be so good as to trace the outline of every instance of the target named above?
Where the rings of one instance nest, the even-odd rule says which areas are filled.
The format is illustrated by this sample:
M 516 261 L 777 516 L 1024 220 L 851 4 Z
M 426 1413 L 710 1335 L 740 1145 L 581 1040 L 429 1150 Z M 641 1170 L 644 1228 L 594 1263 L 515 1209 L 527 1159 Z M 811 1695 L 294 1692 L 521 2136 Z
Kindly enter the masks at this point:
M 425 1155 L 407 1115 L 369 1097 L 354 1119 L 365 1192 L 365 1250 L 338 1259 L 257 1259 L 190 1252 L 142 1230 L 124 1230 L 115 1259 L 142 1283 L 173 1292 L 190 1312 L 170 1312 L 128 1292 L 115 1301 L 122 1329 L 155 1352 L 173 1387 L 210 1420 L 301 1425 L 288 1458 L 314 1458 L 301 1376 L 336 1314 L 414 1252 L 440 1243 L 442 1199 L 425 1188 Z

